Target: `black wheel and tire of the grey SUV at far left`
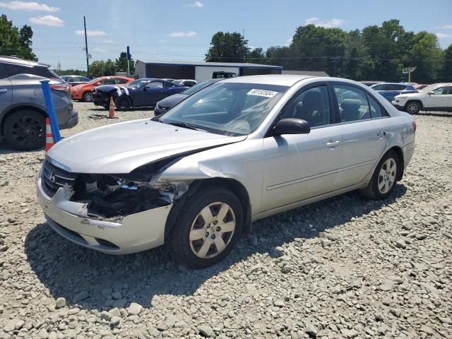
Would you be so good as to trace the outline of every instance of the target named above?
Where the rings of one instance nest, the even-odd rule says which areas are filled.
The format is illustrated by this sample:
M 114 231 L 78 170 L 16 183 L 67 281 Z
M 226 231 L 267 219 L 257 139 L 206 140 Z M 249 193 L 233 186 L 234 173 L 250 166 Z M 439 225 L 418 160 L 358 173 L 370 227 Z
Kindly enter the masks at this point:
M 13 112 L 4 124 L 6 141 L 18 150 L 36 150 L 45 144 L 45 118 L 28 109 Z

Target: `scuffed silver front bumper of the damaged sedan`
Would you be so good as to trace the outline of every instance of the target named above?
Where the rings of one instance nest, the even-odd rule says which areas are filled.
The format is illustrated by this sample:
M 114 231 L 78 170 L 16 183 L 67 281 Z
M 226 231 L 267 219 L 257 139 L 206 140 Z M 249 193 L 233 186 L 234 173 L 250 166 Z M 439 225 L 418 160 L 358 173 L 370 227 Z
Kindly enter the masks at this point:
M 37 200 L 49 225 L 78 245 L 107 254 L 130 254 L 165 242 L 165 225 L 172 204 L 144 210 L 117 220 L 91 218 L 84 203 L 70 201 L 69 186 L 50 197 L 37 177 Z

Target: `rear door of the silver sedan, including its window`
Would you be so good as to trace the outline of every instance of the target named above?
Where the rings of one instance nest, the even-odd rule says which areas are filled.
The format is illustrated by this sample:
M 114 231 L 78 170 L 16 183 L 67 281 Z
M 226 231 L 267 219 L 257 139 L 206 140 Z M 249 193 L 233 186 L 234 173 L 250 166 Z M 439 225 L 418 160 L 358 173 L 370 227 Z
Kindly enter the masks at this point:
M 367 91 L 355 85 L 333 83 L 342 135 L 338 179 L 340 186 L 358 184 L 369 174 L 386 148 L 388 114 Z

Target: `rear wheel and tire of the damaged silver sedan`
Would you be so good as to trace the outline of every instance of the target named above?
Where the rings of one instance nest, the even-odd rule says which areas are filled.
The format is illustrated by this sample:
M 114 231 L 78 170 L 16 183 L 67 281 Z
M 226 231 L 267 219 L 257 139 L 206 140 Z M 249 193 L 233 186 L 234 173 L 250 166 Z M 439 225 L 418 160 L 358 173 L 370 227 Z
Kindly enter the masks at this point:
M 395 151 L 390 150 L 376 165 L 369 184 L 361 190 L 361 193 L 374 200 L 387 198 L 396 188 L 400 170 L 400 159 Z

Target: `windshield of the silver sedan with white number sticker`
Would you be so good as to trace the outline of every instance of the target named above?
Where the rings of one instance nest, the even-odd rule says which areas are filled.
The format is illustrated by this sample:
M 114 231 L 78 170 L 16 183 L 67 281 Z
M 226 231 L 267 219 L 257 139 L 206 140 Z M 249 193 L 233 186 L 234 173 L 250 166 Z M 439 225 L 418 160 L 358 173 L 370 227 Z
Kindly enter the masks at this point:
M 160 121 L 189 124 L 225 136 L 244 136 L 261 125 L 287 88 L 258 83 L 214 83 L 187 97 Z

